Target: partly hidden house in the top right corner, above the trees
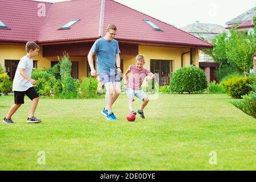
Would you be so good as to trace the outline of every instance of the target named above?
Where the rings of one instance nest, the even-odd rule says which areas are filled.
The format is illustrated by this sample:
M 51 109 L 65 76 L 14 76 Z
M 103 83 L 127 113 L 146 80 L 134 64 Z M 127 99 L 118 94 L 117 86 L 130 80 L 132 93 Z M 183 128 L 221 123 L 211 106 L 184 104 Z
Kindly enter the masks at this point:
M 245 32 L 246 34 L 250 34 L 253 31 L 254 23 L 253 18 L 256 16 L 255 8 L 246 11 L 245 13 L 237 16 L 234 19 L 226 22 L 226 29 L 229 30 L 232 28 L 237 28 L 238 31 Z

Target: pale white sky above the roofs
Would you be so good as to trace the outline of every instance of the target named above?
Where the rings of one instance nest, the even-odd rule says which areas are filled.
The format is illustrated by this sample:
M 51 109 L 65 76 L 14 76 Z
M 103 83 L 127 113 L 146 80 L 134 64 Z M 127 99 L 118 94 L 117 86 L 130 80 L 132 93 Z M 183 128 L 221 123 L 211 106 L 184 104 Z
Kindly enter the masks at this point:
M 67 0 L 37 0 L 61 2 Z M 81 0 L 83 1 L 83 0 Z M 93 1 L 93 0 L 92 0 Z M 226 22 L 256 6 L 256 0 L 114 0 L 137 11 L 182 28 L 199 21 L 219 24 Z

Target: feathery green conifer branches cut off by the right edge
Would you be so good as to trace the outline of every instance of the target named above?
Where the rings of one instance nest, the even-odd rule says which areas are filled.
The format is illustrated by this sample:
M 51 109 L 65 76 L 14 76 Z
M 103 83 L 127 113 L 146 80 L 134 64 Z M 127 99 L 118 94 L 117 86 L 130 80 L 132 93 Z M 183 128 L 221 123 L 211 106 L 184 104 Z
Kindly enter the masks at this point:
M 249 95 L 242 96 L 243 100 L 231 101 L 231 104 L 238 109 L 241 109 L 244 113 L 256 118 L 256 76 L 253 74 L 249 75 L 254 81 L 253 84 L 249 84 L 252 91 L 249 93 Z

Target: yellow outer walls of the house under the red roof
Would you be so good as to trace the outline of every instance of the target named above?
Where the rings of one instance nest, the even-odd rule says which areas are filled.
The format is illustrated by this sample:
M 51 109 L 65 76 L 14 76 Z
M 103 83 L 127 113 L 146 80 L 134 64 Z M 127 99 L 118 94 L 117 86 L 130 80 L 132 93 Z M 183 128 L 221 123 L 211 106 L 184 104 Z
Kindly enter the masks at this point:
M 170 48 L 170 47 L 155 47 L 155 46 L 139 46 L 139 54 L 145 55 L 145 68 L 150 69 L 150 60 L 173 60 L 173 72 L 181 68 L 181 54 L 189 51 L 189 48 Z M 0 64 L 4 67 L 5 60 L 20 60 L 26 55 L 24 46 L 0 45 Z M 134 64 L 135 56 L 121 55 L 123 59 L 123 72 L 126 71 L 129 65 Z M 193 51 L 193 61 L 198 67 L 198 51 Z M 38 69 L 49 68 L 51 61 L 57 61 L 58 57 L 43 57 L 42 47 L 39 55 L 34 59 L 38 61 Z M 78 77 L 87 76 L 87 56 L 71 56 L 71 61 L 78 61 Z M 183 55 L 183 66 L 190 65 L 190 54 Z

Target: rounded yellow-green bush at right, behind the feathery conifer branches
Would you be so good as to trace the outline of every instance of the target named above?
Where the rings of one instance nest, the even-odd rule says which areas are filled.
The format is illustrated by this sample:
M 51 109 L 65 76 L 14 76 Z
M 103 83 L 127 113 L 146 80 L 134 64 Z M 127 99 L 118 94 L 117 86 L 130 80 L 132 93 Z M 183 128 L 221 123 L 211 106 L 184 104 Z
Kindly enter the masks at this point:
M 249 76 L 233 77 L 221 82 L 225 92 L 233 98 L 242 98 L 241 96 L 249 94 L 251 88 L 248 84 L 253 84 L 253 79 Z

